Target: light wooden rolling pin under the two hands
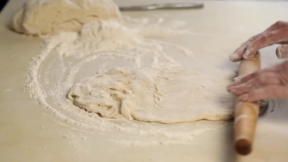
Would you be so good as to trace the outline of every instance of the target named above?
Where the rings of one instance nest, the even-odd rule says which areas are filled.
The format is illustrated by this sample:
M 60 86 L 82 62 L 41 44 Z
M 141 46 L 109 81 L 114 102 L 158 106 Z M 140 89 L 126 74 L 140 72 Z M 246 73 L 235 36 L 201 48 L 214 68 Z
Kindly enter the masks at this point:
M 240 62 L 239 76 L 251 74 L 260 70 L 260 55 L 257 54 L 250 59 Z M 241 155 L 247 155 L 252 151 L 252 144 L 259 114 L 258 102 L 244 102 L 239 96 L 235 100 L 234 111 L 234 146 Z

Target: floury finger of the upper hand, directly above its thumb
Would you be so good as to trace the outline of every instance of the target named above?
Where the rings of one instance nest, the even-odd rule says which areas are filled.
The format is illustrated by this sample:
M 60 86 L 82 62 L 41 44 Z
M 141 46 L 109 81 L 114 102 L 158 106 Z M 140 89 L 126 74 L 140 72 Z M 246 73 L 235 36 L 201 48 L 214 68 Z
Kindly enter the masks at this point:
M 288 38 L 287 30 L 288 28 L 283 27 L 281 29 L 268 32 L 255 41 L 251 41 L 247 45 L 247 49 L 243 54 L 243 58 L 244 59 L 250 58 L 254 56 L 254 54 L 261 48 L 287 40 Z

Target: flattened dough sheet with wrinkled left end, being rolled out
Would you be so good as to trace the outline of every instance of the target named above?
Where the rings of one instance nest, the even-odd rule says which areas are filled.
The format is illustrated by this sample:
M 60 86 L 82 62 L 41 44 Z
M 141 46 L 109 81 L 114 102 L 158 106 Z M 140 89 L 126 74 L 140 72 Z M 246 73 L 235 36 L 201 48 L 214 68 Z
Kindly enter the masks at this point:
M 170 64 L 139 69 L 115 68 L 76 83 L 68 99 L 104 118 L 161 123 L 229 120 L 230 81 Z

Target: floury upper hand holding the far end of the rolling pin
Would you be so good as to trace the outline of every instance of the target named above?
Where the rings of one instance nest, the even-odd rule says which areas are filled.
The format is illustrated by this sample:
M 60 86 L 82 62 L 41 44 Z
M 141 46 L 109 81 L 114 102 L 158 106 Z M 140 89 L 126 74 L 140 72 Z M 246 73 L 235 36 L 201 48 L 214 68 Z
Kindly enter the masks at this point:
M 279 59 L 288 57 L 288 22 L 277 21 L 264 32 L 251 37 L 230 55 L 229 59 L 240 61 L 242 58 L 253 57 L 259 49 L 273 44 L 282 44 L 276 49 L 276 55 Z

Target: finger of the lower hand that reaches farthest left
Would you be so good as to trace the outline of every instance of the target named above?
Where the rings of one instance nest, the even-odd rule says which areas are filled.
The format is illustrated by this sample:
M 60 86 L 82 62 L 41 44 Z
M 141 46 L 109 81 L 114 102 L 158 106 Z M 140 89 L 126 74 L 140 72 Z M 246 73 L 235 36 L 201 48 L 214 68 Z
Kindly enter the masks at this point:
M 249 93 L 254 89 L 258 89 L 260 87 L 266 85 L 281 85 L 282 81 L 278 73 L 274 72 L 259 72 L 256 73 L 257 75 L 252 79 L 243 84 L 231 87 L 228 89 L 229 92 L 235 95 L 242 95 Z

